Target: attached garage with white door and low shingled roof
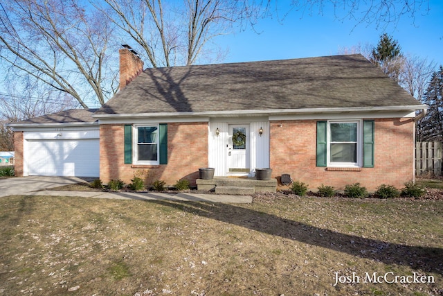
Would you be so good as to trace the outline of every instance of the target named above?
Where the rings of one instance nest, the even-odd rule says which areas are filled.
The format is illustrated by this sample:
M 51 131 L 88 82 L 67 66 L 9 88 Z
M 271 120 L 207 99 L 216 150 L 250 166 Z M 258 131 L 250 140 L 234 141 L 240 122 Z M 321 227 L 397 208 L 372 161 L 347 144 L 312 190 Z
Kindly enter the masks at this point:
M 25 176 L 99 177 L 100 131 L 93 111 L 66 110 L 10 125 L 23 139 L 15 147 L 16 171 Z

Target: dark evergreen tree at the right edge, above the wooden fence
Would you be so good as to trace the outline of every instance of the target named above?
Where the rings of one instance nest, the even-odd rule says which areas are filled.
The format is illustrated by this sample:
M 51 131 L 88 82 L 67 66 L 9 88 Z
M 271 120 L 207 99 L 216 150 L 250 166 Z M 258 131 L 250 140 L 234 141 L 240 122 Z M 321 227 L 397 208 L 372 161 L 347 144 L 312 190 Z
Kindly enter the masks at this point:
M 426 116 L 419 123 L 422 141 L 443 141 L 443 67 L 431 76 L 423 103 L 429 106 Z

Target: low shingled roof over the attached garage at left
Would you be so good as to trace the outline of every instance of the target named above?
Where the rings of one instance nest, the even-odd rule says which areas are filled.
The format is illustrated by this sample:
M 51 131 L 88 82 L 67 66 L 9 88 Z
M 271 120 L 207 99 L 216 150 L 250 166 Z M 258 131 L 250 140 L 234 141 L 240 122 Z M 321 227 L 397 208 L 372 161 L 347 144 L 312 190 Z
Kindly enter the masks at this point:
M 97 109 L 70 109 L 44 116 L 33 117 L 17 123 L 10 123 L 13 128 L 28 125 L 84 125 L 98 124 L 92 115 Z

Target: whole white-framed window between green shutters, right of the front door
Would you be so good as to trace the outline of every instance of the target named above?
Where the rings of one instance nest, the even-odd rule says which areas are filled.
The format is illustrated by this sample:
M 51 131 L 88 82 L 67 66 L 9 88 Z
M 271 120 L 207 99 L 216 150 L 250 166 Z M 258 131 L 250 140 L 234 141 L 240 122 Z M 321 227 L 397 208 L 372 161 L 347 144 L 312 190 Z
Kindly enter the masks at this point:
M 361 167 L 363 159 L 362 122 L 327 122 L 327 166 Z

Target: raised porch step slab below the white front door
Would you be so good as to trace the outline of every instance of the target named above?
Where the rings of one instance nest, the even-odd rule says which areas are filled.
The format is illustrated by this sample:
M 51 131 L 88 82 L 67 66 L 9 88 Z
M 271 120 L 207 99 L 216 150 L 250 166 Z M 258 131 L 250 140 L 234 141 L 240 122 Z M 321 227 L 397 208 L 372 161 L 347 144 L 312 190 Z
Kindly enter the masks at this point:
M 256 180 L 255 178 L 231 178 L 231 177 L 214 177 L 211 180 L 197 179 L 197 189 L 206 191 L 215 191 L 220 193 L 228 189 L 218 189 L 219 187 L 230 187 L 228 193 L 223 194 L 253 194 L 255 192 L 275 192 L 277 190 L 277 180 Z M 238 191 L 249 193 L 232 193 L 233 188 L 239 188 Z M 249 189 L 246 191 L 246 189 Z M 251 191 L 251 189 L 253 191 Z

